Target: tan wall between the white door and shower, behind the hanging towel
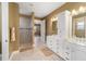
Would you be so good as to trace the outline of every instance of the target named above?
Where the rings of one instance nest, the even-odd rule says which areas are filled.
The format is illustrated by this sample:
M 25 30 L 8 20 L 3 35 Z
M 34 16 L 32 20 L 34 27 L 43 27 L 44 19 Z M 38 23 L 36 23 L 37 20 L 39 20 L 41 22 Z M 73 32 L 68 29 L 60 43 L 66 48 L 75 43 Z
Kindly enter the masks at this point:
M 11 30 L 12 27 L 15 27 L 15 41 L 10 40 L 10 53 L 19 49 L 20 16 L 19 5 L 16 3 L 9 3 L 9 30 Z

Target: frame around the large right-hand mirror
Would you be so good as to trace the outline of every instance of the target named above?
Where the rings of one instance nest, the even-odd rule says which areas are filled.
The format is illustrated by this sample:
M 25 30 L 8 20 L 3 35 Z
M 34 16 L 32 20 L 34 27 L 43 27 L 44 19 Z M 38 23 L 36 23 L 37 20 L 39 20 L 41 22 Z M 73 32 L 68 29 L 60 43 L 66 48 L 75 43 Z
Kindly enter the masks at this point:
M 75 22 L 75 20 L 78 20 L 78 21 L 76 21 Z M 84 21 L 84 34 L 85 34 L 85 36 L 84 37 L 77 37 L 77 36 L 75 36 L 76 34 L 76 23 L 77 22 L 79 22 L 79 20 L 83 20 Z M 82 13 L 82 14 L 78 14 L 78 15 L 74 15 L 74 16 L 72 16 L 72 33 L 73 33 L 73 37 L 75 37 L 75 38 L 82 38 L 82 39 L 86 39 L 86 13 Z

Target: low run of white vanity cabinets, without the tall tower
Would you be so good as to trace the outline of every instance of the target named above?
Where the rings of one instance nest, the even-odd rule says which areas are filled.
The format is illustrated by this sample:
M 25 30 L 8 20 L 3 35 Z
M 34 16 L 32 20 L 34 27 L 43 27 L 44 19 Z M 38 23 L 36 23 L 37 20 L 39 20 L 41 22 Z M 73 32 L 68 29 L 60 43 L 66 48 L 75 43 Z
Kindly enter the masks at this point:
M 86 46 L 57 39 L 48 42 L 48 48 L 65 61 L 86 61 Z

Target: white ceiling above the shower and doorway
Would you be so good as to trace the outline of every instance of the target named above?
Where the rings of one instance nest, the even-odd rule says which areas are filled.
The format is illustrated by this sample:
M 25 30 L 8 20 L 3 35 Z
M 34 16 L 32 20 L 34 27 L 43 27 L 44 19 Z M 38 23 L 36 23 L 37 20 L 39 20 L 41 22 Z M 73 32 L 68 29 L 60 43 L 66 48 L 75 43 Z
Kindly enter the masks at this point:
M 65 2 L 17 2 L 20 13 L 30 15 L 35 13 L 36 17 L 45 17 Z

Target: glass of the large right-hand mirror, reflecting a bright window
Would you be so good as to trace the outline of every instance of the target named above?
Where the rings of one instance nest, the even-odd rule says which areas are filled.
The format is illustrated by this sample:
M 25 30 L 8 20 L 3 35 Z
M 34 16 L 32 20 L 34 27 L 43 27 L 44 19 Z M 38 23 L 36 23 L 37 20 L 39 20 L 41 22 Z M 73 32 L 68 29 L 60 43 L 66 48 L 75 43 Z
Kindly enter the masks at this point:
M 85 22 L 86 16 L 73 17 L 73 35 L 77 38 L 85 38 Z

